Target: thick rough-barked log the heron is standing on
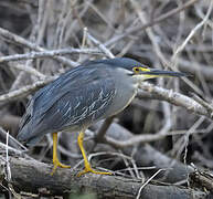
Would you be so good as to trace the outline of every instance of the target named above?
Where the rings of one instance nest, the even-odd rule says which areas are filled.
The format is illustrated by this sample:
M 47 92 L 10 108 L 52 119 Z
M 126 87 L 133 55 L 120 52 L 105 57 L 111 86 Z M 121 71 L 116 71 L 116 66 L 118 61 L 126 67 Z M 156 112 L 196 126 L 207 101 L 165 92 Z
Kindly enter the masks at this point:
M 1 164 L 2 160 L 1 160 Z M 78 191 L 95 191 L 102 198 L 136 198 L 141 187 L 140 181 L 117 177 L 85 175 L 76 177 L 77 170 L 57 169 L 51 176 L 51 168 L 46 164 L 23 158 L 10 158 L 11 181 L 13 188 L 26 192 L 41 195 L 68 195 Z M 207 193 L 194 191 L 177 186 L 147 185 L 140 192 L 146 199 L 201 199 Z

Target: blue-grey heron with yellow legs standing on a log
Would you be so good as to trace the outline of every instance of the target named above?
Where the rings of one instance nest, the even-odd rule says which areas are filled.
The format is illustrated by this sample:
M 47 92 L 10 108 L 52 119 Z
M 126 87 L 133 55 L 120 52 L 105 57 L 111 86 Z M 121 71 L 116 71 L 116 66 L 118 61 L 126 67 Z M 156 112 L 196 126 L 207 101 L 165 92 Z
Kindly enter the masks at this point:
M 86 172 L 110 175 L 90 166 L 83 145 L 85 130 L 96 122 L 124 111 L 136 96 L 142 81 L 185 75 L 150 69 L 130 57 L 86 61 L 34 94 L 20 122 L 18 140 L 33 146 L 44 135 L 52 134 L 53 175 L 57 167 L 70 168 L 57 158 L 57 133 L 78 132 L 77 143 L 84 158 L 84 169 L 78 176 Z

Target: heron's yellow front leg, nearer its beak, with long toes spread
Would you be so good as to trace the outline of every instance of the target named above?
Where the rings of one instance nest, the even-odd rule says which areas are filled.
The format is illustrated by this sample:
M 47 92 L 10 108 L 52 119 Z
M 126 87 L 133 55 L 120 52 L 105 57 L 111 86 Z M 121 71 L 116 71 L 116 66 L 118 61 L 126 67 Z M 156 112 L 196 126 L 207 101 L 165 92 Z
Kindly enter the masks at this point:
M 111 175 L 110 172 L 102 172 L 102 171 L 96 171 L 94 170 L 92 167 L 90 167 L 90 164 L 86 157 L 86 151 L 84 149 L 84 146 L 83 146 L 83 142 L 84 142 L 84 132 L 81 132 L 79 135 L 78 135 L 78 138 L 77 138 L 77 143 L 78 143 L 78 146 L 79 146 L 79 149 L 82 151 L 82 155 L 84 157 L 84 170 L 82 170 L 81 172 L 78 172 L 78 177 L 86 174 L 86 172 L 93 172 L 93 174 L 98 174 L 98 175 Z

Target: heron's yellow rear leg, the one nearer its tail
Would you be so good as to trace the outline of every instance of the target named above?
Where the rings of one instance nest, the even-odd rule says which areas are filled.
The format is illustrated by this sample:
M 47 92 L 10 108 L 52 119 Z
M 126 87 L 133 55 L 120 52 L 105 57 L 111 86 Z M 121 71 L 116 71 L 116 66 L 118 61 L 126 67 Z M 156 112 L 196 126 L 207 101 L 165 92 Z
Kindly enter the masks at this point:
M 53 167 L 51 175 L 53 175 L 55 172 L 57 167 L 71 168 L 71 166 L 63 165 L 57 159 L 57 133 L 53 133 L 53 166 L 54 167 Z

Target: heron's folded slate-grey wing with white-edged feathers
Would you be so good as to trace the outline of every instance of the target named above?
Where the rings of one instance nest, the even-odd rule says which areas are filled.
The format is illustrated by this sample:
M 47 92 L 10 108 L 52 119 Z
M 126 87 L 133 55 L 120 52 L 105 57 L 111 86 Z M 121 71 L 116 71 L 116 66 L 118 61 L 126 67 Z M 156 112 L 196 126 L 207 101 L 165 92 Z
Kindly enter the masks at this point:
M 78 66 L 40 90 L 28 105 L 18 139 L 34 144 L 47 133 L 88 126 L 104 117 L 115 96 L 108 70 Z

